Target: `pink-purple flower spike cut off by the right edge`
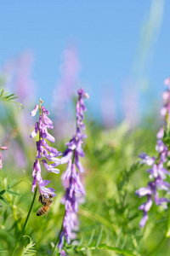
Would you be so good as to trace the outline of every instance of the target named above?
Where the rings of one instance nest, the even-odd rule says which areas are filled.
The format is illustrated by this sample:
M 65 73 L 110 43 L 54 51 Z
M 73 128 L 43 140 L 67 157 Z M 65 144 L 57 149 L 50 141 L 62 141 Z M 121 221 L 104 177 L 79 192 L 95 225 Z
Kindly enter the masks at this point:
M 170 79 L 166 79 L 165 84 L 169 85 L 169 88 L 162 95 L 164 107 L 161 109 L 161 116 L 164 118 L 170 116 Z M 170 183 L 165 181 L 169 172 L 164 167 L 164 164 L 167 162 L 168 148 L 162 141 L 162 138 L 164 137 L 163 127 L 158 131 L 156 137 L 156 151 L 159 153 L 157 158 L 150 157 L 145 153 L 139 155 L 142 159 L 141 163 L 150 166 L 150 169 L 146 171 L 150 173 L 150 182 L 147 187 L 140 188 L 135 192 L 139 197 L 147 196 L 147 201 L 139 207 L 139 210 L 142 210 L 144 213 L 144 216 L 139 223 L 140 227 L 144 227 L 146 224 L 146 221 L 148 220 L 148 212 L 150 211 L 153 201 L 155 201 L 157 206 L 165 208 L 167 208 L 167 202 L 169 201 L 165 197 L 159 197 L 158 192 L 158 190 L 169 191 L 170 189 Z

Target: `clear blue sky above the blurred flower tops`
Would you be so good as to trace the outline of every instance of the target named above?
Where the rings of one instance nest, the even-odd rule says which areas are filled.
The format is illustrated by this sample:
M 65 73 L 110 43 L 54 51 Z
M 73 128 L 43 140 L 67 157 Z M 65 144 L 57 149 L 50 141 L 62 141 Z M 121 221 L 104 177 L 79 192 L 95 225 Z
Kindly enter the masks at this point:
M 138 92 L 139 108 L 145 111 L 150 102 L 161 102 L 163 80 L 170 75 L 169 9 L 170 1 L 162 0 L 3 0 L 0 65 L 32 50 L 37 98 L 49 104 L 62 52 L 75 44 L 79 79 L 90 94 L 94 117 L 100 115 L 105 90 L 114 96 L 108 108 L 119 114 L 125 86 Z

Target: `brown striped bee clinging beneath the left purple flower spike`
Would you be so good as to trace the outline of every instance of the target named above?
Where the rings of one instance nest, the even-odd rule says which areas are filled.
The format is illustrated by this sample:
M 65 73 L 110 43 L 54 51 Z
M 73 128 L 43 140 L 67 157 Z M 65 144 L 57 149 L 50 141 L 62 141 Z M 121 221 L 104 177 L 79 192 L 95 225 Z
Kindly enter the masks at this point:
M 42 216 L 46 212 L 47 212 L 47 216 L 48 216 L 49 208 L 53 204 L 53 198 L 52 197 L 53 197 L 52 195 L 48 195 L 48 197 L 45 197 L 45 196 L 42 196 L 42 195 L 39 196 L 38 201 L 42 204 L 42 207 L 39 208 L 39 210 L 37 210 L 37 216 Z

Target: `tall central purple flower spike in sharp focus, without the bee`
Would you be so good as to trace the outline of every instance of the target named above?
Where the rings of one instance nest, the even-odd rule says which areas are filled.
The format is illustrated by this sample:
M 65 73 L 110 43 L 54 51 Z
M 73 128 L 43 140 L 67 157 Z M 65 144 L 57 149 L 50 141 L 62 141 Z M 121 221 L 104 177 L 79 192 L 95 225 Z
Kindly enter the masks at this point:
M 76 136 L 72 137 L 69 143 L 65 144 L 67 148 L 61 158 L 61 164 L 67 163 L 67 168 L 62 176 L 62 181 L 65 187 L 65 197 L 63 199 L 65 203 L 65 217 L 63 220 L 62 230 L 59 234 L 59 250 L 63 247 L 64 237 L 67 243 L 70 243 L 71 238 L 74 236 L 72 231 L 77 229 L 78 204 L 82 200 L 82 196 L 86 193 L 79 176 L 79 172 L 84 172 L 79 160 L 79 156 L 84 157 L 84 152 L 82 150 L 82 138 L 87 137 L 81 132 L 81 129 L 86 128 L 83 124 L 83 112 L 86 110 L 83 98 L 88 98 L 88 94 L 85 93 L 83 89 L 80 89 L 78 90 L 76 107 L 77 133 Z M 77 172 L 76 167 L 79 172 Z M 64 255 L 65 251 L 61 251 L 61 254 Z

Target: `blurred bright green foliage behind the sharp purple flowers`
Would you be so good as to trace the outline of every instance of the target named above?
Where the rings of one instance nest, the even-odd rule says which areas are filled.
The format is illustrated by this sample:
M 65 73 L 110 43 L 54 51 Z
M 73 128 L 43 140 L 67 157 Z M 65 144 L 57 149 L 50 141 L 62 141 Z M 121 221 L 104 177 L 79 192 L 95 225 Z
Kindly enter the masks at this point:
M 15 148 L 13 155 L 8 156 L 8 150 L 3 152 L 0 177 L 2 255 L 10 254 L 26 220 L 33 197 L 31 172 L 36 157 L 36 138 L 29 138 L 34 127 L 32 124 L 26 125 L 23 119 L 20 123 L 20 116 L 28 112 L 23 109 L 18 111 L 9 105 L 2 107 L 1 141 L 9 134 L 8 147 L 12 141 L 16 141 L 26 155 L 27 164 L 25 170 L 17 166 Z M 69 255 L 88 256 L 169 255 L 169 239 L 165 236 L 168 211 L 153 205 L 145 228 L 140 229 L 142 212 L 138 207 L 144 199 L 134 194 L 136 189 L 146 186 L 148 182 L 148 173 L 145 172 L 147 166 L 139 163 L 138 155 L 141 152 L 150 156 L 156 154 L 157 120 L 146 119 L 133 130 L 126 122 L 105 130 L 101 125 L 89 121 L 87 115 L 86 126 L 88 138 L 84 141 L 85 158 L 82 159 L 85 168 L 82 183 L 87 190 L 86 200 L 79 207 L 80 230 L 77 231 L 77 239 L 71 241 L 71 245 L 65 244 L 65 251 Z M 56 148 L 63 152 L 70 137 L 57 140 Z M 31 143 L 28 143 L 29 140 Z M 52 181 L 51 187 L 56 189 L 57 196 L 47 218 L 36 215 L 41 207 L 37 196 L 26 226 L 26 236 L 21 239 L 15 255 L 51 255 L 65 213 L 65 207 L 60 203 L 65 193 L 60 177 L 65 168 L 66 165 L 59 166 L 59 175 L 48 173 L 42 168 L 43 179 Z

